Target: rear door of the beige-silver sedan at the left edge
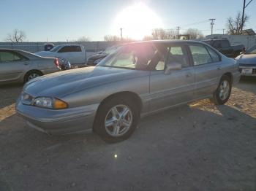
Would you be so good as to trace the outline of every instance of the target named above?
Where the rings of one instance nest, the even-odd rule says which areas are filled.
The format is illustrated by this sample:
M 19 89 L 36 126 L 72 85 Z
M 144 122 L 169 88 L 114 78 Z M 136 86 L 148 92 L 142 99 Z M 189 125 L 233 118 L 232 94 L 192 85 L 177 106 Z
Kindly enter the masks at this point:
M 19 79 L 29 68 L 29 59 L 11 50 L 0 50 L 0 82 Z

